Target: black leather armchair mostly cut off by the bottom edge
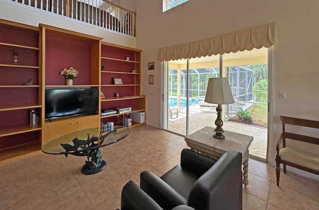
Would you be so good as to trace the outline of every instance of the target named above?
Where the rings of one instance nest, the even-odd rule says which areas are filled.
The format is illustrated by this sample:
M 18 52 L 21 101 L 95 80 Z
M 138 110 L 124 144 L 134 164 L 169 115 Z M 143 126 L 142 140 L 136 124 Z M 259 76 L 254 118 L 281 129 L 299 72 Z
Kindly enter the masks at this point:
M 122 190 L 121 210 L 163 210 L 133 181 L 129 181 Z M 185 205 L 179 205 L 172 210 L 194 210 Z

